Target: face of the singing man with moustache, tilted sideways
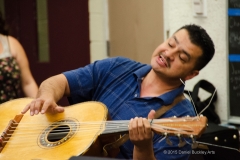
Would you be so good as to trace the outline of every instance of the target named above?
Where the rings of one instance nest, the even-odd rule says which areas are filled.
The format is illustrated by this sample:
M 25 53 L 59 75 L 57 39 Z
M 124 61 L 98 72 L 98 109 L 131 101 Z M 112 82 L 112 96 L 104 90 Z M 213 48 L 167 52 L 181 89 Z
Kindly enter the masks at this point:
M 198 75 L 194 67 L 201 55 L 201 48 L 192 44 L 188 32 L 181 29 L 155 49 L 151 66 L 159 76 L 188 80 Z

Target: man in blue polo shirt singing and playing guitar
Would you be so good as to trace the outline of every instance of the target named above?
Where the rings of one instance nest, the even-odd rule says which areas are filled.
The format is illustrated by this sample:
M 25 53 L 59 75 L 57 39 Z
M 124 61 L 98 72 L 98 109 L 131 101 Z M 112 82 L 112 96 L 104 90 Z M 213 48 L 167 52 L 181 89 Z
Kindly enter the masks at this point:
M 172 145 L 167 144 L 165 136 L 152 134 L 148 119 L 196 116 L 186 98 L 161 117 L 156 113 L 163 106 L 174 104 L 183 94 L 185 81 L 197 76 L 214 52 L 214 43 L 205 29 L 185 25 L 154 50 L 150 65 L 113 57 L 50 77 L 41 83 L 36 99 L 22 113 L 30 110 L 33 116 L 63 112 L 64 108 L 57 105 L 63 96 L 68 96 L 71 104 L 100 101 L 113 120 L 131 119 L 130 140 L 120 147 L 117 158 L 188 159 L 191 143 L 179 147 L 178 137 L 170 137 Z

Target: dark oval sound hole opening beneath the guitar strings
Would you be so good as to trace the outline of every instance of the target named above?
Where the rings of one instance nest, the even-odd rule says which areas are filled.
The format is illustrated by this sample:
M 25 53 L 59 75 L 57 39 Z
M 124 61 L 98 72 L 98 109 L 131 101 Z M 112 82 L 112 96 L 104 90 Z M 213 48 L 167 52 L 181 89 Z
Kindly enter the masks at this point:
M 70 127 L 68 125 L 60 125 L 51 130 L 47 136 L 49 142 L 56 142 L 68 135 Z

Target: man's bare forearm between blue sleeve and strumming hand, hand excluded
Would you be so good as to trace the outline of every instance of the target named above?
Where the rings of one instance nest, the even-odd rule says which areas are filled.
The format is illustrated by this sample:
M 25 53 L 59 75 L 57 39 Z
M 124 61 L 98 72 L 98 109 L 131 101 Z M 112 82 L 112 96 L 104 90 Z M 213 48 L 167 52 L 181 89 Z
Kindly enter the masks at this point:
M 64 95 L 69 95 L 68 82 L 65 76 L 60 74 L 43 81 L 36 98 L 51 98 L 57 102 Z

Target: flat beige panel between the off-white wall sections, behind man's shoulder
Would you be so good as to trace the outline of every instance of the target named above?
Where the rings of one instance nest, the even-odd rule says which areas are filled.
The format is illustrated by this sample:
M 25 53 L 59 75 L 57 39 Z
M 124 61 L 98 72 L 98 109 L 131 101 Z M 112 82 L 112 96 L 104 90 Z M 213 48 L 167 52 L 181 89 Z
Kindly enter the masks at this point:
M 163 42 L 162 0 L 109 0 L 110 56 L 150 63 Z

